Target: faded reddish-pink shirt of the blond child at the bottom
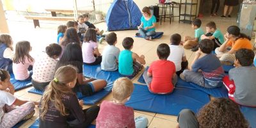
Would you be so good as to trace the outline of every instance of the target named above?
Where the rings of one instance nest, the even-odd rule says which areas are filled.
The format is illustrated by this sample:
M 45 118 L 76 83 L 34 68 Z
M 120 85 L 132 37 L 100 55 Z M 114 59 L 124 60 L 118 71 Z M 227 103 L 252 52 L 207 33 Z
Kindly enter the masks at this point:
M 97 128 L 129 127 L 135 128 L 133 109 L 124 105 L 114 104 L 104 100 L 100 104 L 99 115 L 96 119 Z

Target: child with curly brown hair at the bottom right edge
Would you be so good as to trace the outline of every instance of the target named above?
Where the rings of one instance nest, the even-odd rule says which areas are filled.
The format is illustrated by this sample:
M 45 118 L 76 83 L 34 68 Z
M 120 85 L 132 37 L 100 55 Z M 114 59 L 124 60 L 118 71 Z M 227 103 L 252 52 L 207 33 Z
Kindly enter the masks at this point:
M 230 99 L 213 99 L 200 109 L 196 116 L 193 111 L 183 109 L 177 118 L 180 128 L 247 128 L 248 122 L 240 111 L 239 106 Z

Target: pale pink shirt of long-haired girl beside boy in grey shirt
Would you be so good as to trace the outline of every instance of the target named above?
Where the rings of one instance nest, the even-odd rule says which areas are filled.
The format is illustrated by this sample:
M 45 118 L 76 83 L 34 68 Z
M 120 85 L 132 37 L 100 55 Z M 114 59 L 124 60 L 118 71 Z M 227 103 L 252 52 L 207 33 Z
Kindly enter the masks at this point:
M 84 63 L 93 63 L 96 59 L 94 57 L 93 51 L 98 47 L 97 42 L 83 42 L 83 61 Z

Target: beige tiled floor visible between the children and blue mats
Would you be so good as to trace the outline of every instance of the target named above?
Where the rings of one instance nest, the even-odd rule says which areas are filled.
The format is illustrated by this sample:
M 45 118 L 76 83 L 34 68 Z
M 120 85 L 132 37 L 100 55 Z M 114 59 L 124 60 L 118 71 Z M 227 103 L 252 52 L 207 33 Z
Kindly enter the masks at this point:
M 205 24 L 210 21 L 214 20 L 218 26 L 218 29 L 222 31 L 222 33 L 225 33 L 226 29 L 230 25 L 236 24 L 236 19 L 220 19 L 219 17 L 205 17 L 203 20 L 202 28 L 205 28 Z M 12 35 L 12 38 L 14 42 L 17 42 L 19 40 L 28 40 L 31 42 L 33 51 L 31 54 L 33 56 L 38 56 L 40 54 L 40 51 L 44 51 L 44 47 L 48 44 L 56 42 L 56 32 L 57 27 L 60 24 L 65 24 L 65 22 L 51 22 L 51 21 L 40 21 L 41 28 L 33 28 L 33 22 L 31 20 L 28 20 L 28 22 L 17 22 L 17 21 L 10 21 L 8 20 L 9 28 L 10 28 L 10 34 Z M 100 24 L 96 24 L 97 27 L 100 29 L 106 30 L 106 24 L 104 22 Z M 22 30 L 22 32 L 20 32 Z M 169 24 L 169 22 L 164 22 L 162 25 L 157 23 L 157 31 L 163 31 L 164 35 L 161 39 L 156 39 L 153 41 L 147 41 L 143 38 L 134 38 L 134 48 L 132 49 L 133 52 L 136 52 L 138 54 L 144 54 L 145 60 L 147 62 L 146 65 L 150 65 L 152 61 L 157 60 L 157 54 L 156 54 L 156 48 L 157 45 L 161 43 L 170 43 L 170 35 L 173 33 L 179 33 L 182 36 L 189 35 L 193 36 L 194 32 L 193 29 L 191 29 L 190 24 L 183 24 L 175 21 L 172 22 L 172 24 Z M 136 31 L 116 31 L 115 32 L 118 36 L 118 44 L 116 44 L 117 47 L 119 47 L 121 50 L 122 47 L 122 40 L 125 36 L 131 36 L 134 37 L 134 33 Z M 104 46 L 106 46 L 107 43 L 103 42 L 103 44 L 99 45 L 100 51 L 104 49 Z M 194 53 L 186 50 L 186 57 L 191 63 L 194 57 Z M 138 83 L 138 76 L 133 80 L 134 83 Z M 30 88 L 26 88 L 24 90 L 20 90 L 18 92 L 15 92 L 15 96 L 19 97 L 20 99 L 26 99 L 26 100 L 33 100 L 33 101 L 39 101 L 41 96 L 28 93 L 28 90 Z M 111 93 L 104 98 L 104 100 L 111 100 L 112 95 Z M 100 101 L 102 102 L 102 100 Z M 99 102 L 99 104 L 100 104 Z M 89 106 L 84 106 L 84 108 L 88 108 Z M 161 115 L 158 113 L 148 113 L 145 111 L 134 111 L 135 116 L 147 116 L 149 124 L 148 126 L 150 128 L 153 127 L 176 127 L 177 125 L 177 116 L 170 116 L 170 115 Z M 29 127 L 33 122 L 35 122 L 36 118 L 38 118 L 38 108 L 36 108 L 36 113 L 21 127 Z M 93 122 L 95 124 L 95 122 Z

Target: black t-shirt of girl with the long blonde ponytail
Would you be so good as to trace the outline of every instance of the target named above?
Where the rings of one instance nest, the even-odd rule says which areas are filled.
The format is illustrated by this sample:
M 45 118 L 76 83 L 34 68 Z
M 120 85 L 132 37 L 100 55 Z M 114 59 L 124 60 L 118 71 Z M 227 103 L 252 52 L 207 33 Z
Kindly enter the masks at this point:
M 86 116 L 84 115 L 83 109 L 80 107 L 78 99 L 75 94 L 63 94 L 62 102 L 65 106 L 65 109 L 68 111 L 69 115 L 63 116 L 60 114 L 55 106 L 54 102 L 48 103 L 48 111 L 45 114 L 45 119 L 42 120 L 40 118 L 39 127 L 48 128 L 48 127 L 68 127 L 69 124 L 73 124 L 76 122 L 77 127 L 83 127 Z M 41 109 L 41 102 L 39 104 L 39 108 Z M 40 114 L 42 111 L 40 110 Z M 39 114 L 39 115 L 40 115 Z

